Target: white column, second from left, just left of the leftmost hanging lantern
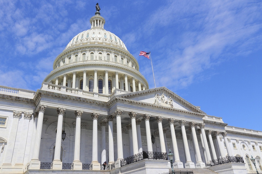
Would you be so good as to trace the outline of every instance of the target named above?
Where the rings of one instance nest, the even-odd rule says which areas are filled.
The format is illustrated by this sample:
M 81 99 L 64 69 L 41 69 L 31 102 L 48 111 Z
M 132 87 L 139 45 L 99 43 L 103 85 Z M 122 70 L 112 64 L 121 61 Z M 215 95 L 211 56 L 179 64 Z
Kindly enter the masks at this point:
M 57 129 L 56 129 L 56 139 L 55 139 L 55 155 L 53 160 L 53 169 L 61 170 L 62 161 L 61 156 L 61 143 L 62 143 L 62 130 L 63 130 L 63 115 L 65 113 L 65 108 L 57 108 L 58 120 L 57 120 Z M 38 116 L 39 119 L 39 116 Z

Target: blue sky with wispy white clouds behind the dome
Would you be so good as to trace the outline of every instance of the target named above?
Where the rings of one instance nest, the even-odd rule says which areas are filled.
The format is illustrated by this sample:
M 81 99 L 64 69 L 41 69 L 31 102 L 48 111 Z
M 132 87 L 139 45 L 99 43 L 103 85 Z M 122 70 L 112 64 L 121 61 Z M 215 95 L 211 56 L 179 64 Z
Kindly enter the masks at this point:
M 228 125 L 262 130 L 261 1 L 0 0 L 0 85 L 37 90 L 53 60 L 90 29 L 104 28 L 137 59 L 154 88 L 166 86 Z

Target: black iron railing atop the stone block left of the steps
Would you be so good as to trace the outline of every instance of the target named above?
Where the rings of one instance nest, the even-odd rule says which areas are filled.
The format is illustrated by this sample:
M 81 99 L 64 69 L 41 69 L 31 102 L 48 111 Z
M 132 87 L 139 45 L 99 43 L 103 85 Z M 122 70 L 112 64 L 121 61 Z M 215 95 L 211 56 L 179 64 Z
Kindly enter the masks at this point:
M 121 167 L 132 164 L 134 162 L 143 160 L 143 159 L 152 159 L 152 160 L 167 160 L 167 155 L 166 153 L 162 152 L 141 152 L 138 154 L 135 154 L 133 156 L 129 156 L 123 160 L 120 160 Z

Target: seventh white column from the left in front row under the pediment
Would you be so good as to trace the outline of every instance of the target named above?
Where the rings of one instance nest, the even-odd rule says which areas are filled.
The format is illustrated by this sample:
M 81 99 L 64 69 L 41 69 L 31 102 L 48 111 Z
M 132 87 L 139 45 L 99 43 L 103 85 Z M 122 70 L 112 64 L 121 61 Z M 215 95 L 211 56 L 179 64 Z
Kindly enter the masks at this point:
M 191 127 L 192 139 L 193 139 L 195 153 L 196 153 L 196 157 L 197 157 L 196 168 L 204 168 L 204 167 L 206 167 L 206 164 L 203 163 L 202 158 L 201 158 L 201 154 L 200 154 L 200 149 L 199 149 L 198 140 L 197 140 L 197 136 L 196 136 L 196 130 L 195 130 L 196 122 L 191 121 L 191 122 L 189 122 L 189 125 Z

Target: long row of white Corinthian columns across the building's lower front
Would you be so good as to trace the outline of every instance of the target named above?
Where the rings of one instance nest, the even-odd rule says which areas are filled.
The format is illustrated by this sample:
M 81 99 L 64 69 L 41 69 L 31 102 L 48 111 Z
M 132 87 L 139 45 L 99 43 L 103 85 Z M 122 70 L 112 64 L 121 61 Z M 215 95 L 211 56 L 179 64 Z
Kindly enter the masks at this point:
M 37 165 L 40 164 L 39 161 L 39 151 L 40 151 L 40 142 L 41 142 L 41 133 L 42 133 L 42 125 L 43 125 L 43 116 L 44 112 L 47 106 L 45 105 L 39 105 L 38 106 L 38 122 L 37 122 L 37 128 L 36 128 L 36 134 L 35 134 L 35 148 L 33 151 L 32 159 L 29 165 L 31 169 L 36 169 Z M 63 127 L 63 114 L 65 112 L 65 108 L 58 108 L 58 121 L 57 121 L 57 133 L 56 133 L 56 140 L 55 140 L 55 146 L 61 147 L 61 140 L 62 140 L 62 127 Z M 115 116 L 108 115 L 107 121 L 101 121 L 101 134 L 102 134 L 102 152 L 101 152 L 101 162 L 106 160 L 106 142 L 105 142 L 105 126 L 108 123 L 108 164 L 115 163 L 114 161 L 114 142 L 113 142 L 113 119 L 116 117 L 117 120 L 117 161 L 123 159 L 123 142 L 122 142 L 122 127 L 121 127 L 121 115 L 122 110 L 116 109 L 115 110 Z M 82 169 L 82 163 L 80 161 L 80 129 L 81 129 L 81 116 L 83 114 L 83 111 L 76 110 L 75 116 L 76 116 L 76 133 L 75 133 L 75 146 L 74 146 L 74 169 L 81 170 Z M 99 117 L 99 113 L 91 113 L 91 117 L 93 119 L 93 129 L 92 129 L 92 165 L 93 170 L 100 170 L 100 163 L 98 162 L 98 128 L 97 128 L 97 120 Z M 142 142 L 141 142 L 141 130 L 140 130 L 140 123 L 141 120 L 136 119 L 137 113 L 136 112 L 130 112 L 129 117 L 131 118 L 131 124 L 127 125 L 128 134 L 129 134 L 129 154 L 130 156 L 142 152 Z M 151 115 L 144 114 L 143 118 L 145 121 L 145 129 L 146 129 L 146 140 L 147 140 L 147 151 L 153 152 L 152 148 L 152 141 L 151 141 L 151 135 L 150 135 L 150 120 Z M 164 131 L 166 133 L 166 129 L 162 128 L 162 120 L 163 117 L 156 117 L 155 118 L 158 122 L 158 131 L 159 131 L 159 139 L 160 139 L 160 147 L 161 152 L 166 153 L 168 149 L 166 149 L 166 140 L 164 136 Z M 181 156 L 181 152 L 178 151 L 178 144 L 177 139 L 175 135 L 175 120 L 173 118 L 169 118 L 167 120 L 170 125 L 170 132 L 171 132 L 171 138 L 172 138 L 172 144 L 173 144 L 173 150 L 174 150 L 174 167 L 175 168 L 183 168 L 183 164 L 180 161 L 179 156 Z M 188 122 L 188 125 L 190 125 L 190 132 L 192 136 L 193 146 L 194 146 L 194 152 L 196 155 L 196 164 L 194 164 L 191 160 L 190 156 L 190 149 L 188 146 L 188 139 L 186 136 L 186 129 L 185 129 L 185 120 L 179 120 L 178 121 L 180 127 L 181 127 L 181 134 L 182 134 L 182 141 L 183 141 L 183 148 L 186 158 L 185 168 L 203 168 L 205 167 L 205 164 L 202 161 L 201 155 L 200 155 L 200 148 L 198 144 L 198 139 L 196 135 L 195 127 L 199 126 L 199 133 L 203 148 L 203 153 L 205 156 L 206 163 L 209 163 L 210 160 L 217 159 L 219 157 L 216 156 L 216 154 L 219 154 L 221 157 L 225 157 L 225 154 L 223 153 L 223 147 L 221 146 L 221 143 L 218 143 L 219 152 L 215 152 L 215 147 L 213 144 L 211 132 L 212 130 L 207 130 L 211 152 L 212 152 L 212 158 L 211 153 L 209 151 L 209 146 L 207 142 L 207 136 L 205 131 L 205 124 L 199 123 L 198 125 L 196 122 L 191 121 Z M 219 138 L 220 132 L 215 131 L 215 136 L 217 140 L 220 140 Z M 225 139 L 225 144 L 227 147 L 227 153 L 229 156 L 232 156 L 232 153 L 230 151 L 229 143 L 227 141 L 227 132 L 222 132 L 222 135 Z M 62 161 L 60 160 L 60 148 L 55 148 L 54 152 L 54 160 L 53 160 L 53 169 L 62 169 Z

